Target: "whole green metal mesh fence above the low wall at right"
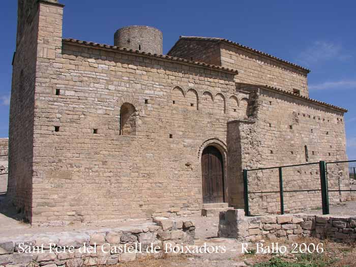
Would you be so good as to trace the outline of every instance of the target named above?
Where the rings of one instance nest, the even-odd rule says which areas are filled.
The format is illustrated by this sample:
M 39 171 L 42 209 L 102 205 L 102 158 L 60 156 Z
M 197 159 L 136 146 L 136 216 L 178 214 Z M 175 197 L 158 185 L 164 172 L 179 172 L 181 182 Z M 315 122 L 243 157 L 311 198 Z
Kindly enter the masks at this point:
M 312 213 L 356 214 L 356 161 L 244 170 L 248 215 Z

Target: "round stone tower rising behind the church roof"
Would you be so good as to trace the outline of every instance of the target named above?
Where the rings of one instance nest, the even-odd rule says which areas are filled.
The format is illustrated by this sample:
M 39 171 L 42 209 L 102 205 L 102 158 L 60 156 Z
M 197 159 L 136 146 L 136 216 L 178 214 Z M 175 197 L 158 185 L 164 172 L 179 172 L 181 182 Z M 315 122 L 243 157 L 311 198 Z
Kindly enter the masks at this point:
M 162 54 L 163 35 L 159 29 L 154 27 L 138 25 L 127 26 L 116 31 L 114 35 L 114 45 L 154 54 Z

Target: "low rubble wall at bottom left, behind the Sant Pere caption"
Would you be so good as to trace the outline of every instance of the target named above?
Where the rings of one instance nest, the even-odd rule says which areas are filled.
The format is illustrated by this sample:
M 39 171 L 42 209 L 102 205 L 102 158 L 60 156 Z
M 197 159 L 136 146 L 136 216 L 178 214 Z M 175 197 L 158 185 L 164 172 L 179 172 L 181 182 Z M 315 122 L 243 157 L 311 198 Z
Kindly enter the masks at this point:
M 162 257 L 166 244 L 168 248 L 175 244 L 194 244 L 195 226 L 192 221 L 155 218 L 154 222 L 121 228 L 2 238 L 0 265 L 113 265 L 147 257 Z M 40 250 L 26 253 L 29 249 L 33 251 L 34 246 L 38 246 Z M 133 249 L 129 251 L 130 246 Z M 67 247 L 67 250 L 64 251 L 63 247 Z M 151 250 L 155 247 L 157 253 Z

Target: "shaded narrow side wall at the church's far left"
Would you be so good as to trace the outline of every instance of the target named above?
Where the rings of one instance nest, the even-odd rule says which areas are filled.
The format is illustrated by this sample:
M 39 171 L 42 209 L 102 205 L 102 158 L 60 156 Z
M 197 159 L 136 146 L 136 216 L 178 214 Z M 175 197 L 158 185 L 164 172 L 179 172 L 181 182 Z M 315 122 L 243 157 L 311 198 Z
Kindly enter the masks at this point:
M 18 1 L 18 35 L 9 120 L 8 195 L 14 199 L 18 209 L 26 217 L 31 217 L 32 214 L 34 107 L 39 32 L 39 9 L 35 2 Z M 23 5 L 20 5 L 21 3 Z M 28 14 L 28 10 L 31 10 L 31 13 Z

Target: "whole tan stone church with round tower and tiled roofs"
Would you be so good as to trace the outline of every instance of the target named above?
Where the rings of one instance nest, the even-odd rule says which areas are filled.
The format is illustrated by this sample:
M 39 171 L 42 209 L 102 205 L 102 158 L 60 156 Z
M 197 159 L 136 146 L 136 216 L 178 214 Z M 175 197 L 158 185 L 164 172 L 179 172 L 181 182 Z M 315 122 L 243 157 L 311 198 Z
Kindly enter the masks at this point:
M 32 224 L 244 206 L 244 168 L 347 160 L 344 108 L 308 69 L 222 38 L 149 26 L 64 39 L 64 6 L 18 0 L 9 185 Z

